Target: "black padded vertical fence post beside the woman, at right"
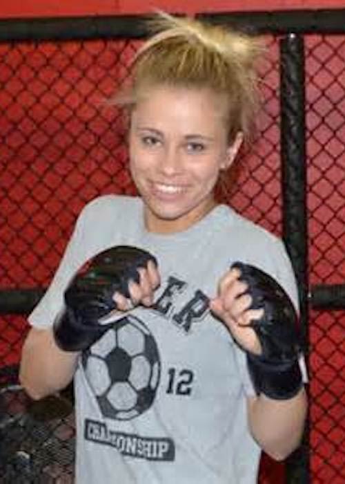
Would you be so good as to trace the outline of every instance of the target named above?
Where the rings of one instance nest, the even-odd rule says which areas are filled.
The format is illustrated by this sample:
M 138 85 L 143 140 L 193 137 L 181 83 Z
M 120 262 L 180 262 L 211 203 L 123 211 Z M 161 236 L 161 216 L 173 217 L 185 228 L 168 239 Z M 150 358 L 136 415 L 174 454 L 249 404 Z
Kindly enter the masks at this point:
M 308 225 L 306 208 L 306 129 L 304 41 L 294 34 L 280 41 L 283 236 L 299 288 L 301 332 L 308 359 Z M 309 484 L 309 432 L 286 463 L 287 484 Z

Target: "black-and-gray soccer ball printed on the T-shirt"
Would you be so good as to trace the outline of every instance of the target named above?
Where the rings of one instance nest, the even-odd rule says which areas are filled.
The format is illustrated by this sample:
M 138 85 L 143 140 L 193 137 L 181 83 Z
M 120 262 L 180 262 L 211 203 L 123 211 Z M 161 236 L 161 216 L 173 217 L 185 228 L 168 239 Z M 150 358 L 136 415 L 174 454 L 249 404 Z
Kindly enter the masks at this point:
M 150 408 L 161 365 L 155 339 L 139 319 L 116 322 L 81 361 L 104 417 L 130 420 Z

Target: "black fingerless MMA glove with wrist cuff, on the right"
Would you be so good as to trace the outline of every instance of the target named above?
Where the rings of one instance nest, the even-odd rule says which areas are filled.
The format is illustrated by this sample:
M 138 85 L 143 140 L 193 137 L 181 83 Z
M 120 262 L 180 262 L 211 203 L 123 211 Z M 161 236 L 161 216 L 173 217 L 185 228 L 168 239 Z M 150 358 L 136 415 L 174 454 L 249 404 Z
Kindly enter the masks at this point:
M 302 387 L 299 368 L 298 317 L 284 289 L 266 272 L 245 263 L 231 268 L 241 271 L 253 303 L 250 309 L 264 309 L 260 319 L 250 322 L 262 346 L 262 354 L 247 353 L 248 369 L 257 394 L 287 400 Z

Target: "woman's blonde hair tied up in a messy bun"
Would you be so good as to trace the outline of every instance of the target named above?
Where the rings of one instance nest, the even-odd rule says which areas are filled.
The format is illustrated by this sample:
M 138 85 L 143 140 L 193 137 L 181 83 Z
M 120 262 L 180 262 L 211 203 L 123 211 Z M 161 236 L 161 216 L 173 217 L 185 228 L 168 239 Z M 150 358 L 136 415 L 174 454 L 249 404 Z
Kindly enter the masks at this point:
M 228 100 L 228 136 L 241 131 L 244 140 L 255 133 L 259 106 L 255 68 L 264 47 L 256 37 L 212 26 L 187 17 L 159 12 L 150 21 L 150 37 L 137 51 L 131 84 L 115 98 L 131 108 L 139 95 L 155 84 L 208 88 Z

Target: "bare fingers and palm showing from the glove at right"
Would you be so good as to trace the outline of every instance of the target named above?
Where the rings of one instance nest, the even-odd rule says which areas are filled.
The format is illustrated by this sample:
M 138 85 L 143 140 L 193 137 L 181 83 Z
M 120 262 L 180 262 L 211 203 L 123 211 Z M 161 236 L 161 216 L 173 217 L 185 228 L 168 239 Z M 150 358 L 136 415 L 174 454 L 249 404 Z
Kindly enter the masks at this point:
M 259 355 L 262 353 L 259 338 L 250 322 L 262 317 L 263 309 L 250 309 L 252 298 L 248 294 L 248 285 L 239 280 L 238 269 L 230 269 L 221 277 L 217 296 L 210 300 L 210 310 L 228 327 L 237 343 L 245 351 Z

